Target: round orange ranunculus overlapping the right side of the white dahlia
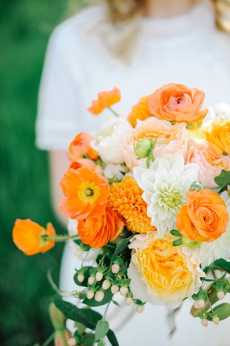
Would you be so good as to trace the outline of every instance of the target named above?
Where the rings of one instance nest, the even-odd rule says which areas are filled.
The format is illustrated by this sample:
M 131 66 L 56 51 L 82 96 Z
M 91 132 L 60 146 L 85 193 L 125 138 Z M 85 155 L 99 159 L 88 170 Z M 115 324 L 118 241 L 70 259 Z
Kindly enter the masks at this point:
M 177 213 L 177 229 L 185 237 L 211 242 L 226 231 L 229 214 L 225 202 L 209 189 L 190 191 L 187 205 Z

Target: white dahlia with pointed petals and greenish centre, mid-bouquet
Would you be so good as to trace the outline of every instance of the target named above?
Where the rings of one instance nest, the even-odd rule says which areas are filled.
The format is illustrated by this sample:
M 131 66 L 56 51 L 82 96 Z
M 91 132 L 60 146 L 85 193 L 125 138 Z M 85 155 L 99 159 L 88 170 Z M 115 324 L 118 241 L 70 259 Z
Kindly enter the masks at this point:
M 184 164 L 183 157 L 168 155 L 157 158 L 146 168 L 134 167 L 133 175 L 142 188 L 143 200 L 148 204 L 147 216 L 151 225 L 157 226 L 160 237 L 176 226 L 178 209 L 186 203 L 186 193 L 192 182 L 197 181 L 198 165 Z

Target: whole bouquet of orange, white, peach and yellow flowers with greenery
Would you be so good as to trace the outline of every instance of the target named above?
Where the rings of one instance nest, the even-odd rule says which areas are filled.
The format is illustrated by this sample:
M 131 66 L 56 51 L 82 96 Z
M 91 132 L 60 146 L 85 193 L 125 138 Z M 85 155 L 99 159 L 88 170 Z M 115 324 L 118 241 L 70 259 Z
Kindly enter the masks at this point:
M 82 260 L 75 304 L 53 283 L 55 345 L 103 346 L 107 337 L 117 346 L 106 320 L 116 293 L 138 312 L 146 302 L 174 309 L 192 297 L 205 327 L 230 316 L 230 304 L 215 304 L 230 292 L 230 107 L 202 109 L 204 97 L 170 83 L 119 115 L 111 106 L 120 90 L 100 92 L 88 110 L 108 108 L 112 117 L 93 136 L 74 138 L 60 182 L 69 235 L 16 220 L 13 240 L 26 255 L 69 241 Z M 104 315 L 88 309 L 102 305 Z

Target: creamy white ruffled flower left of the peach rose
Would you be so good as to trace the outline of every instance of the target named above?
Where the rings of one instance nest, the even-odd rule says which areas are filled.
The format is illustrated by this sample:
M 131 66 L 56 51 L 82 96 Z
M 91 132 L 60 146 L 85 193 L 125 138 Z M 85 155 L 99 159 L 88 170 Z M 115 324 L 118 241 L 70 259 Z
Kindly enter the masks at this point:
M 91 146 L 106 164 L 123 164 L 124 154 L 121 145 L 124 144 L 125 137 L 131 128 L 124 118 L 109 118 L 95 132 Z

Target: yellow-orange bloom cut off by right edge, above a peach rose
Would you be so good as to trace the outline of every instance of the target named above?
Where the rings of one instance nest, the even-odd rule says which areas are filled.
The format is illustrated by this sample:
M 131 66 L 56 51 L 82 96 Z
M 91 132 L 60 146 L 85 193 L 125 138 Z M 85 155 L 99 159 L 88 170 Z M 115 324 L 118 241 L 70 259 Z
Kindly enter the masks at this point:
M 206 130 L 206 140 L 219 155 L 230 154 L 230 120 L 218 120 Z

